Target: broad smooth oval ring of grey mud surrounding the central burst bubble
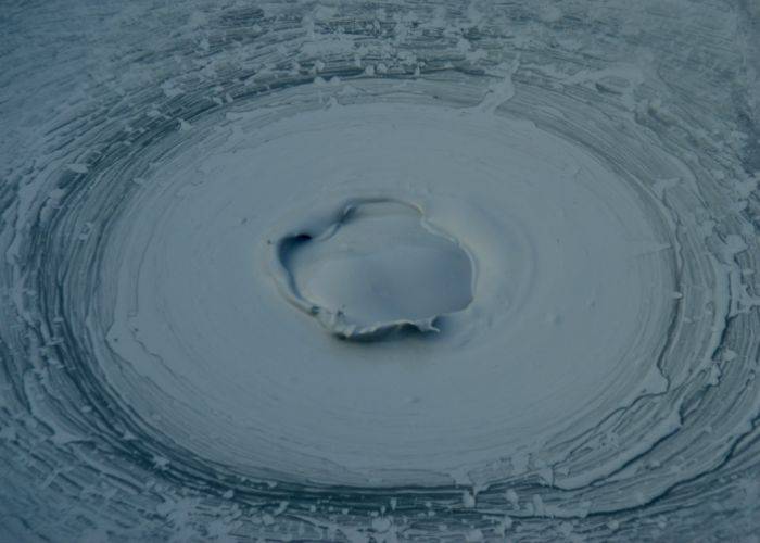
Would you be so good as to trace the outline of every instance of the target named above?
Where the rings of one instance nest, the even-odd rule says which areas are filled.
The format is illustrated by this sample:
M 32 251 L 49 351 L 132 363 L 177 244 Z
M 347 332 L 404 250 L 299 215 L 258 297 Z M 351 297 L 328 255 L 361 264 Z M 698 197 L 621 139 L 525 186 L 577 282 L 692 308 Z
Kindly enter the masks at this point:
M 238 126 L 243 135 L 221 138 L 218 148 L 202 142 L 202 157 L 179 154 L 155 168 L 164 197 L 138 198 L 128 209 L 124 243 L 105 249 L 104 262 L 114 267 L 103 277 L 113 279 L 98 289 L 99 304 L 113 315 L 106 338 L 117 357 L 101 364 L 107 379 L 134 409 L 147 409 L 143 416 L 160 408 L 141 384 L 130 383 L 121 362 L 129 361 L 137 376 L 160 387 L 161 402 L 176 402 L 160 426 L 190 424 L 219 435 L 183 446 L 253 472 L 266 466 L 284 479 L 300 472 L 330 483 L 441 484 L 457 470 L 535 453 L 533 443 L 590 411 L 611 412 L 643 392 L 664 390 L 664 378 L 646 361 L 660 356 L 660 331 L 679 303 L 675 241 L 656 199 L 636 193 L 592 156 L 530 123 L 422 103 L 333 106 L 269 124 L 251 112 Z M 293 155 L 293 149 L 301 151 Z M 364 167 L 370 159 L 380 166 Z M 299 194 L 305 178 L 327 187 Z M 404 185 L 388 181 L 402 178 Z M 262 191 L 268 185 L 277 190 Z M 470 248 L 477 288 L 470 302 L 467 255 L 452 254 L 452 241 L 422 231 L 428 245 L 445 243 L 436 258 L 449 269 L 425 269 L 443 273 L 432 281 L 404 279 L 444 290 L 454 273 L 465 288 L 435 300 L 448 306 L 409 320 L 464 311 L 451 313 L 441 323 L 444 333 L 432 340 L 335 344 L 282 303 L 271 252 L 287 296 L 309 311 L 331 308 L 330 294 L 350 289 L 345 276 L 353 272 L 339 264 L 344 268 L 320 276 L 309 265 L 331 256 L 331 242 L 351 244 L 352 223 L 338 198 L 358 199 L 354 227 L 365 236 L 413 242 L 408 230 L 419 229 L 420 212 L 408 206 L 411 225 L 401 223 L 402 232 L 392 231 L 397 220 L 362 218 L 371 206 L 358 205 L 369 198 L 360 194 L 381 190 L 416 202 L 441 231 L 457 232 Z M 293 228 L 304 199 L 314 217 Z M 291 213 L 283 212 L 288 205 Z M 401 211 L 389 205 L 385 212 Z M 337 228 L 329 237 L 341 217 L 345 233 Z M 288 225 L 283 233 L 273 231 L 278 222 Z M 309 243 L 317 254 L 308 253 Z M 388 241 L 380 248 L 389 250 Z M 367 257 L 359 283 L 382 269 L 371 260 L 367 267 Z M 409 263 L 405 256 L 401 264 Z M 379 311 L 369 302 L 359 314 Z M 346 310 L 347 318 L 353 314 Z M 325 317 L 329 329 L 351 336 L 350 324 L 332 320 Z M 359 326 L 369 327 L 359 336 L 373 330 L 371 321 Z M 207 409 L 197 412 L 200 403 Z M 483 417 L 494 412 L 499 416 Z

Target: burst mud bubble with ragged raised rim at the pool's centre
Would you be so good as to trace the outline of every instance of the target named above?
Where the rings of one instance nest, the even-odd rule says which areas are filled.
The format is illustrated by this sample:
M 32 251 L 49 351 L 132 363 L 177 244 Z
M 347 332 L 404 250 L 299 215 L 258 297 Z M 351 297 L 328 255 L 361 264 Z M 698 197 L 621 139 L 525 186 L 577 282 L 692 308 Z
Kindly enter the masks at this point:
M 372 339 L 438 318 L 472 301 L 472 261 L 415 205 L 354 200 L 276 245 L 283 294 L 332 333 Z

